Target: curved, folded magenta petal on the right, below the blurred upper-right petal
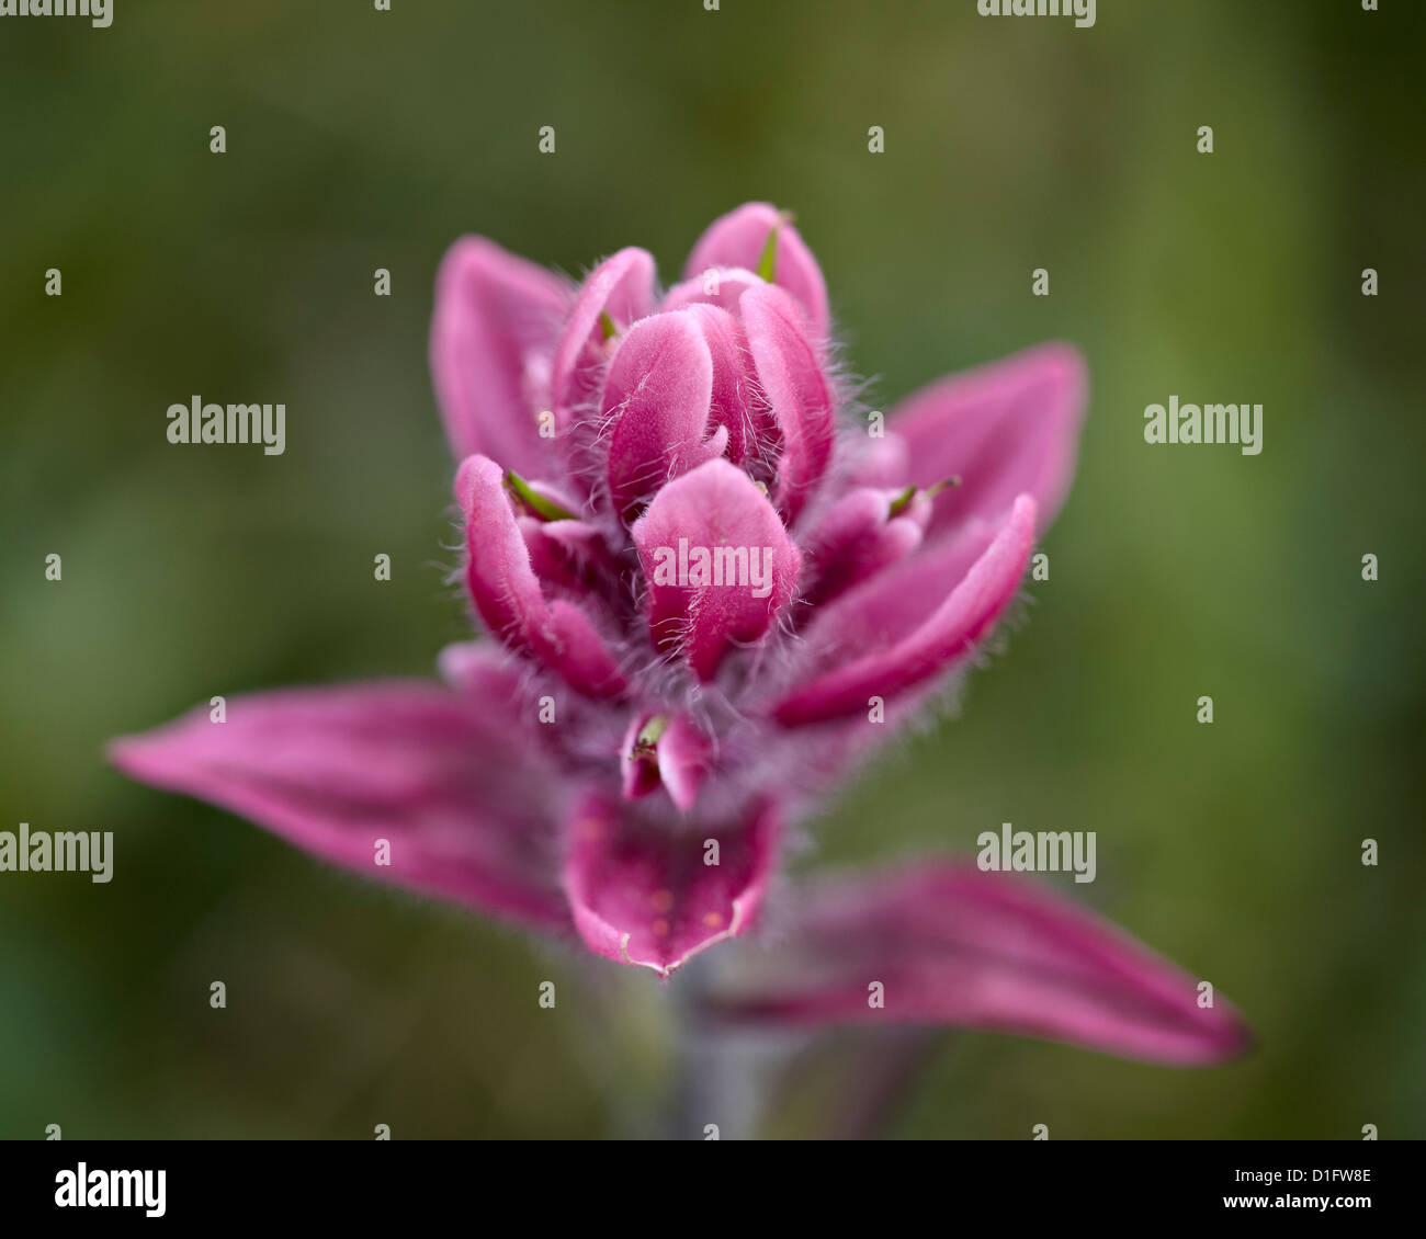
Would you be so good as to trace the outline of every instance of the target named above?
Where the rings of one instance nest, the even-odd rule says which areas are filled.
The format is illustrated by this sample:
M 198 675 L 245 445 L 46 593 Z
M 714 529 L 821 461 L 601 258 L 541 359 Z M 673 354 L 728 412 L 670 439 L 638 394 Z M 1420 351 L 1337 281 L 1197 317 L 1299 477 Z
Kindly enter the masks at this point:
M 799 686 L 776 707 L 777 721 L 797 727 L 866 713 L 871 697 L 890 700 L 947 670 L 970 652 L 1015 596 L 1034 538 L 1035 500 L 1021 495 L 1004 528 L 950 597 L 915 627 L 910 623 L 918 612 L 940 596 L 918 580 L 917 573 L 924 570 L 918 557 L 838 599 L 809 629 L 807 644 L 824 663 L 838 654 L 850 662 Z M 964 542 L 943 552 L 953 566 L 965 553 Z M 930 562 L 944 573 L 941 560 Z M 836 634 L 819 632 L 823 624 Z M 870 653 L 856 657 L 856 650 Z

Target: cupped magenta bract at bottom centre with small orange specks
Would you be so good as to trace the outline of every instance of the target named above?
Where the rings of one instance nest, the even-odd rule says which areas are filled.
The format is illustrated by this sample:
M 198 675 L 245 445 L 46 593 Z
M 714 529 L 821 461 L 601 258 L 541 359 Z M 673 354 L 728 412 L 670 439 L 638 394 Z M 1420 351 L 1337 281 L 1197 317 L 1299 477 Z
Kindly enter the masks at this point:
M 588 947 L 667 977 L 757 917 L 779 820 L 756 807 L 732 827 L 643 823 L 589 796 L 570 824 L 565 891 Z M 710 843 L 717 843 L 716 864 Z

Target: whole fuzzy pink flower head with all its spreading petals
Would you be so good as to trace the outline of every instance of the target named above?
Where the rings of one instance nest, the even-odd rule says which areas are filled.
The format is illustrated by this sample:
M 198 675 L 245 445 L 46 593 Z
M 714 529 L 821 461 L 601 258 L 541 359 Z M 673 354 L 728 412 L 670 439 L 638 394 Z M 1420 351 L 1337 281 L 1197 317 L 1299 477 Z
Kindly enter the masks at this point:
M 572 288 L 459 241 L 431 362 L 493 640 L 446 649 L 441 682 L 238 699 L 114 761 L 663 977 L 776 894 L 771 948 L 709 999 L 726 1018 L 1241 1049 L 1226 1004 L 1028 881 L 937 860 L 771 884 L 789 830 L 1015 596 L 1085 405 L 1078 354 L 1044 345 L 924 388 L 883 435 L 847 409 L 829 332 L 817 262 L 761 202 L 662 295 L 637 248 Z

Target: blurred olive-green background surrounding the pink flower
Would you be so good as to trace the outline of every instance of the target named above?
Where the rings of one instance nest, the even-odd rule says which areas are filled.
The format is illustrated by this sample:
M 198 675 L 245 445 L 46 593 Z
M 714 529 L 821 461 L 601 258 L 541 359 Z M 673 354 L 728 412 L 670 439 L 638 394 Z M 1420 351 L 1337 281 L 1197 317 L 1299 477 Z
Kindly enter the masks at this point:
M 0 1136 L 640 1129 L 669 1084 L 656 981 L 334 873 L 127 783 L 101 746 L 214 693 L 426 673 L 466 632 L 425 361 L 451 241 L 570 274 L 642 244 L 672 278 L 749 198 L 797 212 L 874 406 L 1044 338 L 1092 376 L 1028 623 L 799 867 L 970 853 L 1001 821 L 1095 830 L 1098 881 L 1052 881 L 1261 1041 L 1184 1072 L 955 1035 L 888 1131 L 1426 1135 L 1423 20 L 1382 7 L 1101 0 L 1089 30 L 974 0 L 0 20 L 0 828 L 117 848 L 108 885 L 0 875 Z M 1263 403 L 1262 455 L 1145 445 L 1171 392 Z M 287 453 L 171 446 L 164 411 L 193 394 L 284 401 Z M 776 1101 L 767 1131 L 830 1133 L 840 1082 Z

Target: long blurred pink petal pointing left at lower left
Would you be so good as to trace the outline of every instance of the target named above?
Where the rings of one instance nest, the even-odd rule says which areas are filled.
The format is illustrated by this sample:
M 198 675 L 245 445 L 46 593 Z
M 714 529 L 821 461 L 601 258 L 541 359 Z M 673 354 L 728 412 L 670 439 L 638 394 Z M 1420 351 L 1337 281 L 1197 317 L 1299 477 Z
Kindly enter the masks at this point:
M 230 700 L 222 723 L 200 707 L 118 739 L 110 756 L 365 877 L 558 927 L 550 780 L 508 709 L 408 680 L 262 693 Z

